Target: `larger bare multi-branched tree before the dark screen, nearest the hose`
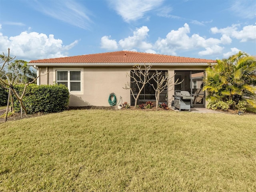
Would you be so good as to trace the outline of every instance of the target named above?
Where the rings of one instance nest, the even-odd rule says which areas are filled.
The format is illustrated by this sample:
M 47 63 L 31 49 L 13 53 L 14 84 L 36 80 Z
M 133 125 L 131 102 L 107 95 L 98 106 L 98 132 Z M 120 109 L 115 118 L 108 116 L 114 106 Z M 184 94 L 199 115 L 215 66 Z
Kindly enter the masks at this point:
M 135 100 L 135 108 L 143 88 L 156 75 L 152 74 L 152 76 L 149 76 L 151 67 L 152 64 L 144 64 L 143 67 L 142 65 L 135 65 L 133 66 L 133 70 L 131 70 L 130 74 L 127 74 L 127 76 L 130 77 L 130 82 L 125 84 L 124 89 L 129 89 L 132 92 L 132 96 Z M 136 86 L 134 87 L 134 85 Z

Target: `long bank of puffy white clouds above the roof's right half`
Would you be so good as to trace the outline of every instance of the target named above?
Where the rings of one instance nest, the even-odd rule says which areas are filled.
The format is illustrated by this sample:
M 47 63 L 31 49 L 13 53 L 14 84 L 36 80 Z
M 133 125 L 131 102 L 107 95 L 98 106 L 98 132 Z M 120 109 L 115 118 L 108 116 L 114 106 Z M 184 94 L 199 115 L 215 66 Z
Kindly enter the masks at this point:
M 213 29 L 218 32 L 218 29 Z M 184 24 L 178 30 L 171 30 L 166 38 L 158 38 L 154 44 L 147 42 L 149 29 L 147 26 L 136 28 L 133 36 L 119 40 L 110 40 L 110 36 L 103 36 L 101 39 L 102 48 L 116 50 L 137 50 L 148 53 L 160 53 L 168 55 L 177 55 L 178 50 L 202 49 L 198 52 L 199 55 L 220 54 L 224 47 L 220 45 L 230 44 L 232 39 L 230 36 L 223 34 L 220 39 L 205 38 L 198 34 L 190 34 L 190 27 Z

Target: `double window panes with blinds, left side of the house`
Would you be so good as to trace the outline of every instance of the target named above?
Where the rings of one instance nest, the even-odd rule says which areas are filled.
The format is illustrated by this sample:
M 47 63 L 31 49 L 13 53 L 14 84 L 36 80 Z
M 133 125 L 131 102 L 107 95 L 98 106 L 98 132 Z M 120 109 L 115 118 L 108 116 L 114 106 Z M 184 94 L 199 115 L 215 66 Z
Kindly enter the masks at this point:
M 56 82 L 58 85 L 63 84 L 68 87 L 70 92 L 81 91 L 81 71 L 57 70 Z

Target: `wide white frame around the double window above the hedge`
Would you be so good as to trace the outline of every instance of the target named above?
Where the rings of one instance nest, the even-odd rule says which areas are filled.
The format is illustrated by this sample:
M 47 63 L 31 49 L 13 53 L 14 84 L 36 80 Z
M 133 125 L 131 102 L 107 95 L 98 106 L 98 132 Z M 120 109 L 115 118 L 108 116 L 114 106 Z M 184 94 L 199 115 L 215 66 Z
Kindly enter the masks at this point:
M 53 69 L 53 82 L 54 83 L 58 83 L 57 82 L 57 71 L 68 71 L 68 90 L 70 90 L 70 82 L 80 82 L 80 91 L 69 91 L 70 94 L 74 94 L 74 95 L 79 95 L 79 94 L 84 94 L 84 68 L 54 68 Z M 70 71 L 80 71 L 80 81 L 70 81 Z M 62 82 L 64 82 L 64 80 L 60 80 Z

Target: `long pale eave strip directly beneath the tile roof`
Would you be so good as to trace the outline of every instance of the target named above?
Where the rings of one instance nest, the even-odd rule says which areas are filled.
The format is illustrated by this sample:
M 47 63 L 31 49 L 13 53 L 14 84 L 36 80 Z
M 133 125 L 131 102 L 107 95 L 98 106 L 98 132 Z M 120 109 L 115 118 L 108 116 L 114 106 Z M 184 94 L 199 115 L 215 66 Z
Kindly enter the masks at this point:
M 30 66 L 52 66 L 52 67 L 130 67 L 137 64 L 144 63 L 28 63 Z M 209 66 L 209 63 L 146 63 L 146 65 L 152 66 L 163 66 L 163 67 L 171 67 L 171 66 Z M 216 63 L 210 63 L 216 64 Z

